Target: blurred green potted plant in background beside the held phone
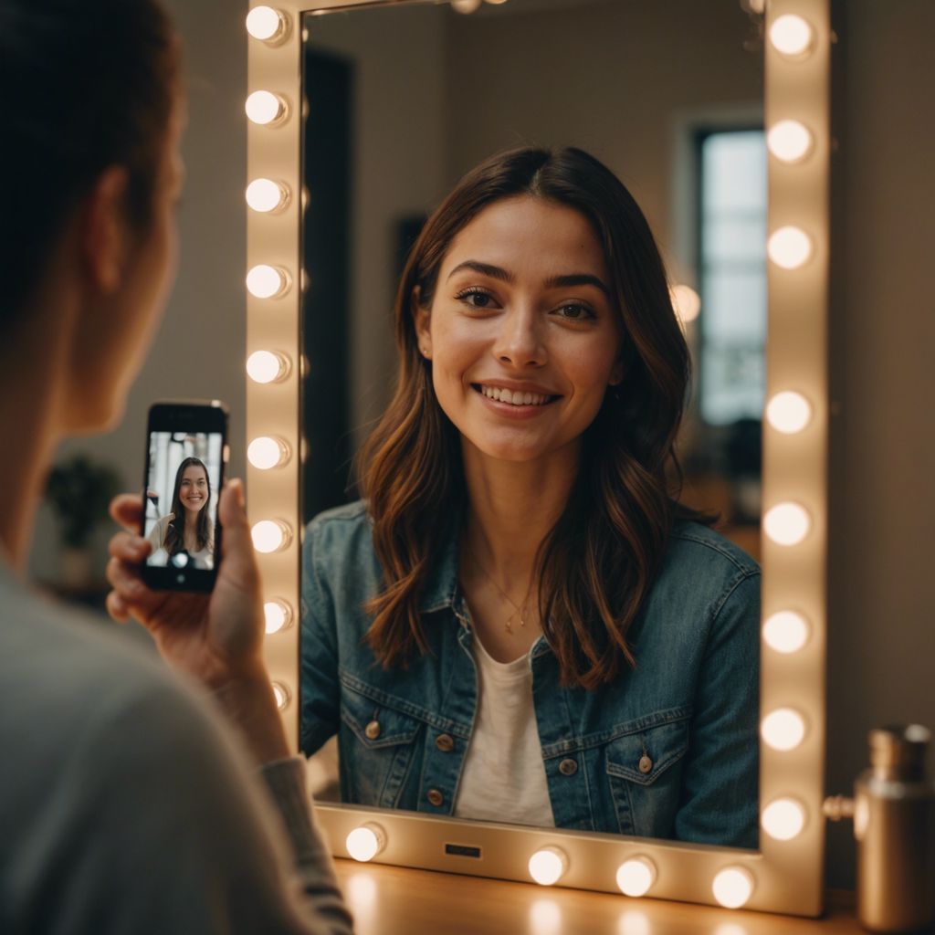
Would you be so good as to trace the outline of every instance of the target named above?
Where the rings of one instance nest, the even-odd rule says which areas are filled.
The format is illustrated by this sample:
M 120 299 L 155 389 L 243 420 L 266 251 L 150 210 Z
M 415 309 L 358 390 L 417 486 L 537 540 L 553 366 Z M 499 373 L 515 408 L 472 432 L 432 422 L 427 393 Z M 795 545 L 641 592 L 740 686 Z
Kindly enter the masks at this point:
M 46 498 L 62 532 L 62 583 L 69 588 L 91 582 L 92 554 L 88 548 L 94 529 L 108 516 L 108 504 L 120 490 L 117 472 L 87 454 L 51 469 Z

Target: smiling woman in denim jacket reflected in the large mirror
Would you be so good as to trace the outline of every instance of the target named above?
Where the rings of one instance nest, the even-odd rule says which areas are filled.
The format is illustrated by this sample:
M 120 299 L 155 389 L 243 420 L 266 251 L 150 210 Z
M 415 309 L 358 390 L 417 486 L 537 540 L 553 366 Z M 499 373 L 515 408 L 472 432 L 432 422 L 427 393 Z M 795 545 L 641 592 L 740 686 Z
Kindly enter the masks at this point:
M 688 352 L 576 149 L 468 173 L 396 297 L 364 501 L 309 526 L 302 746 L 345 801 L 755 847 L 759 569 L 669 478 Z

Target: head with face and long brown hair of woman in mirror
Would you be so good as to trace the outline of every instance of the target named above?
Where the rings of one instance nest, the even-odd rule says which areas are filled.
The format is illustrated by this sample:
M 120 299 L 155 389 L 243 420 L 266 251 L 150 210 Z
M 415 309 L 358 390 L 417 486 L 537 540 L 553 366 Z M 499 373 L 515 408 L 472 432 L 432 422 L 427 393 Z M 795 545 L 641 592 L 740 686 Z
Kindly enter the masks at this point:
M 359 461 L 391 569 L 374 604 L 374 641 L 381 626 L 398 624 L 389 642 L 420 642 L 413 608 L 425 545 L 439 535 L 439 511 L 450 514 L 464 496 L 464 465 L 558 459 L 576 480 L 540 550 L 542 619 L 554 609 L 574 621 L 573 639 L 553 634 L 566 642 L 567 673 L 582 683 L 611 677 L 616 656 L 630 658 L 611 625 L 623 620 L 616 631 L 626 632 L 668 535 L 666 471 L 689 372 L 639 206 L 581 150 L 491 157 L 413 246 L 396 296 L 396 341 L 396 395 Z M 582 572 L 592 550 L 603 550 L 609 568 L 626 556 L 629 572 L 618 577 L 630 597 L 598 583 L 593 563 Z

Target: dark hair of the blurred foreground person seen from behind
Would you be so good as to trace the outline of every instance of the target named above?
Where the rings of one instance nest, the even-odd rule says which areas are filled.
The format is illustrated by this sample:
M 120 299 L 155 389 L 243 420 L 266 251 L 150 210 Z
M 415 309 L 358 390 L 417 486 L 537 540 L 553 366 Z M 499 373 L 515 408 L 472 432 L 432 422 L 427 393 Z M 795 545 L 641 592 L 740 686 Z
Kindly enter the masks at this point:
M 149 223 L 179 73 L 157 0 L 0 0 L 0 334 L 109 165 L 129 172 L 129 221 Z

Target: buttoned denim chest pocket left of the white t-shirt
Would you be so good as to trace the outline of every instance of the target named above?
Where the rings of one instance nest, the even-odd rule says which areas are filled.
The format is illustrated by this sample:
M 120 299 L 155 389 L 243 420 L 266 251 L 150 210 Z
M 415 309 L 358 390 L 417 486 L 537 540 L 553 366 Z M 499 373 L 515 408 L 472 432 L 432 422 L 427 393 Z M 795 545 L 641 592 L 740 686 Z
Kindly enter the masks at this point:
M 399 799 L 423 727 L 418 718 L 342 684 L 338 735 L 342 800 L 387 809 L 405 807 Z

